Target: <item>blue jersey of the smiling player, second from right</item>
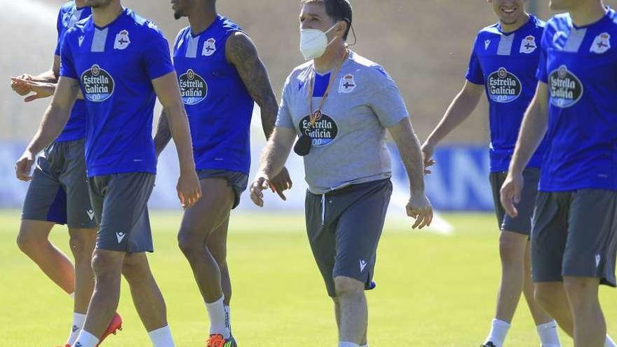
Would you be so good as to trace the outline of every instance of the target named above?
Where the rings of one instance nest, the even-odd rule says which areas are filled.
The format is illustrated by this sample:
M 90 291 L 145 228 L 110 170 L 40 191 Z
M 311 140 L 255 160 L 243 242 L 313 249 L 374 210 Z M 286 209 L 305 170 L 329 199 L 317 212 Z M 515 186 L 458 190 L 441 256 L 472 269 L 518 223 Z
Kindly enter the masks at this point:
M 501 24 L 478 32 L 466 79 L 482 84 L 489 100 L 491 129 L 490 170 L 508 171 L 522 118 L 536 92 L 536 69 L 545 23 L 531 15 L 515 32 L 504 33 Z M 545 142 L 529 166 L 539 168 Z

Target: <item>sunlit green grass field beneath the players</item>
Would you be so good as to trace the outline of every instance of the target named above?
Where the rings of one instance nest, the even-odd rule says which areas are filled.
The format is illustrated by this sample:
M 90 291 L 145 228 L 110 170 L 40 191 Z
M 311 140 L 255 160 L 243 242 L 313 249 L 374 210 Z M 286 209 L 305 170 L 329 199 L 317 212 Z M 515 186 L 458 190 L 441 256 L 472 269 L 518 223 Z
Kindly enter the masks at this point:
M 150 259 L 168 304 L 179 347 L 203 346 L 208 315 L 189 265 L 175 243 L 179 214 L 152 212 Z M 492 215 L 445 215 L 452 236 L 411 232 L 388 223 L 379 248 L 377 290 L 369 292 L 369 342 L 379 346 L 477 346 L 494 314 L 499 280 L 498 233 Z M 15 245 L 19 213 L 0 212 L 0 346 L 52 347 L 65 342 L 72 303 Z M 242 347 L 336 346 L 325 294 L 300 215 L 232 216 L 229 266 L 232 323 Z M 67 250 L 67 233 L 54 242 Z M 617 335 L 617 301 L 603 288 L 609 330 Z M 104 346 L 150 346 L 126 283 L 118 311 L 124 329 Z M 562 334 L 563 346 L 572 346 Z M 522 302 L 506 346 L 539 346 Z

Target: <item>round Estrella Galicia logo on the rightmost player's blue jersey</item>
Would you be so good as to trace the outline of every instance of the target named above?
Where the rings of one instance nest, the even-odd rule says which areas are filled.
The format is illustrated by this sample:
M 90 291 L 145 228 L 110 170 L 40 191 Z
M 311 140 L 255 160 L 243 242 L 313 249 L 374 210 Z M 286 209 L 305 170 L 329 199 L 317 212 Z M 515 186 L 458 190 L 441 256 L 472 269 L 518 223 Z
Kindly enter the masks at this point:
M 565 109 L 576 104 L 583 96 L 583 83 L 568 71 L 565 65 L 555 69 L 548 76 L 550 103 Z

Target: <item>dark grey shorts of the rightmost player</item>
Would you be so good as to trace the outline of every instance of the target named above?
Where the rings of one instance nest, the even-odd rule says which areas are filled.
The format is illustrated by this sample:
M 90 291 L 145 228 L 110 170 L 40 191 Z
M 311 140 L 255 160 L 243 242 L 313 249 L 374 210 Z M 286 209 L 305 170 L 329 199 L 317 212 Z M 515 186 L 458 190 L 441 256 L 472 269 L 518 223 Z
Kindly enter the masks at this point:
M 595 277 L 616 286 L 617 191 L 538 193 L 531 261 L 534 282 Z

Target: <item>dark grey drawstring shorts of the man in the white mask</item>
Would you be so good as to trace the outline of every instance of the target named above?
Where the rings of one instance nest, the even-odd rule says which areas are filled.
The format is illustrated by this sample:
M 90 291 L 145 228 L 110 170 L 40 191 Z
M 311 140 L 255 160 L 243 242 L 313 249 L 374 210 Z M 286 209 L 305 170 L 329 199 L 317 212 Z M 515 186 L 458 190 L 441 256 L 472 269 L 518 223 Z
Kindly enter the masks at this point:
M 377 245 L 384 229 L 390 179 L 355 184 L 325 195 L 306 192 L 306 231 L 328 295 L 334 278 L 345 276 L 375 287 Z

